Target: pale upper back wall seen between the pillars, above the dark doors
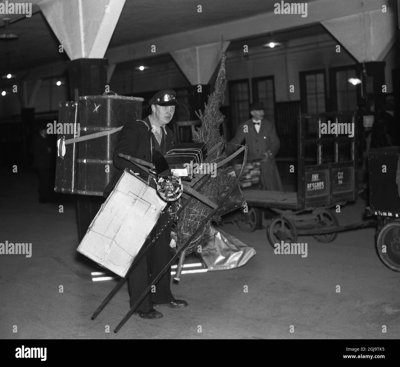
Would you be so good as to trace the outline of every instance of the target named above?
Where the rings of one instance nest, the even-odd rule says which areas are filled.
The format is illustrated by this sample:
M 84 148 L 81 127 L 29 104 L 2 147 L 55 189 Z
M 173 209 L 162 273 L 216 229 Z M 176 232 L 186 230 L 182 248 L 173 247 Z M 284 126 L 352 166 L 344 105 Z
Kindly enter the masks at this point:
M 248 53 L 244 53 L 243 48 L 232 50 L 230 47 L 226 52 L 226 77 L 229 81 L 273 75 L 276 102 L 284 102 L 300 99 L 299 72 L 325 68 L 326 90 L 329 93 L 328 68 L 355 64 L 355 60 L 343 47 L 340 53 L 336 52 L 336 44 L 336 40 L 327 32 L 318 36 L 290 40 L 276 49 L 259 46 L 250 48 Z M 396 54 L 396 47 L 392 47 L 384 59 L 387 63 L 385 74 L 388 93 L 392 92 L 392 69 L 397 67 Z M 138 64 L 137 61 L 117 65 L 109 83 L 110 90 L 122 95 L 140 96 L 141 92 L 190 86 L 172 58 L 166 56 L 164 59 L 167 61 L 161 64 L 154 63 L 144 71 L 134 69 L 134 65 Z M 210 80 L 212 88 L 216 72 L 217 69 L 214 70 Z M 54 85 L 56 80 L 57 77 L 42 80 L 34 106 L 36 112 L 58 110 L 58 103 L 69 99 L 67 86 Z M 294 93 L 289 92 L 291 84 L 294 85 Z M 33 82 L 27 83 L 28 100 L 33 85 Z M 18 101 L 15 96 L 7 98 L 0 96 L 0 119 L 11 114 L 19 114 L 21 104 L 22 98 Z M 227 87 L 224 106 L 228 105 Z

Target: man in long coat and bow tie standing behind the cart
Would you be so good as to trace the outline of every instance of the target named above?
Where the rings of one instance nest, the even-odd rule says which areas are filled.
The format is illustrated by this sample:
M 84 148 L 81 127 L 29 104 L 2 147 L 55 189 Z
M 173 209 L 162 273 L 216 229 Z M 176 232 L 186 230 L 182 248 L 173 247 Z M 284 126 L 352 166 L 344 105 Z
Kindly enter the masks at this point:
M 248 160 L 260 161 L 261 183 L 264 190 L 283 191 L 275 155 L 279 150 L 280 141 L 276 134 L 274 122 L 264 119 L 264 105 L 260 102 L 250 106 L 253 116 L 238 126 L 232 144 L 248 144 Z M 227 145 L 227 154 L 235 149 Z

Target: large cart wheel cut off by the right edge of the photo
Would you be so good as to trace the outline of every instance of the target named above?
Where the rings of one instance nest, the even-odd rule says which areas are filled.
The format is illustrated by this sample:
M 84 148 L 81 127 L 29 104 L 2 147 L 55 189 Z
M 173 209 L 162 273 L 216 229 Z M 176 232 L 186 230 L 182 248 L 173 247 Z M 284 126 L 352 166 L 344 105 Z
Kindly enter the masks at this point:
M 376 250 L 388 268 L 400 271 L 400 221 L 392 221 L 382 227 L 376 239 Z

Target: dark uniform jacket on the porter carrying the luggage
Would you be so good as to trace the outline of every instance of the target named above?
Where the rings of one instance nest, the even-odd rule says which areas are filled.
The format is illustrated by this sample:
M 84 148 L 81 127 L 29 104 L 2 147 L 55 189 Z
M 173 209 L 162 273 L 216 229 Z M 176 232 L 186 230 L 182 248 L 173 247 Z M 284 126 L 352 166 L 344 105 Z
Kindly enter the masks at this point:
M 166 147 L 169 150 L 172 144 L 175 144 L 175 134 L 168 126 L 166 129 Z M 147 180 L 148 175 L 146 172 L 141 170 L 138 166 L 118 156 L 118 153 L 128 154 L 132 157 L 146 160 L 147 162 L 153 162 L 153 152 L 155 148 L 155 138 L 151 131 L 151 124 L 148 117 L 143 120 L 136 120 L 127 122 L 117 136 L 117 145 L 114 149 L 113 163 L 118 172 L 114 174 L 111 181 L 108 183 L 106 189 L 104 189 L 104 197 L 108 197 L 111 191 L 114 189 L 118 180 L 122 176 L 125 168 L 129 168 L 135 173 L 139 173 L 140 176 Z

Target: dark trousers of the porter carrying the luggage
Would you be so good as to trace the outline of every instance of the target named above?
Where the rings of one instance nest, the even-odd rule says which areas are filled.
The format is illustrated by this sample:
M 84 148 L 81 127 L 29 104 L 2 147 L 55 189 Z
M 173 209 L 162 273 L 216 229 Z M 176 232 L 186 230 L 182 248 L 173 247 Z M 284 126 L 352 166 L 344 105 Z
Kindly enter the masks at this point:
M 168 221 L 169 214 L 164 213 L 158 219 L 158 222 L 151 233 L 153 237 L 161 226 Z M 170 251 L 171 227 L 168 227 L 158 241 L 153 245 L 147 255 L 138 263 L 134 271 L 129 275 L 128 290 L 130 296 L 130 307 L 139 299 L 146 288 L 164 269 L 168 261 L 172 258 Z M 150 291 L 146 298 L 136 308 L 137 311 L 145 311 L 153 308 L 153 303 L 166 303 L 172 301 L 172 293 L 170 288 L 171 268 L 156 283 L 155 292 Z

